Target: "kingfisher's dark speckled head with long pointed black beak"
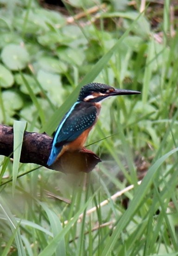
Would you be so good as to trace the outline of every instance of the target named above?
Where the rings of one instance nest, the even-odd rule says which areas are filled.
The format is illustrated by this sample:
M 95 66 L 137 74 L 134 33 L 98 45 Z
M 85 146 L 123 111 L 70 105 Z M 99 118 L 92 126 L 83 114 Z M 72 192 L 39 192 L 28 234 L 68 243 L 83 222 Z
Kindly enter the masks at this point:
M 138 91 L 115 89 L 102 83 L 89 83 L 80 90 L 78 101 L 99 102 L 115 95 L 140 94 Z

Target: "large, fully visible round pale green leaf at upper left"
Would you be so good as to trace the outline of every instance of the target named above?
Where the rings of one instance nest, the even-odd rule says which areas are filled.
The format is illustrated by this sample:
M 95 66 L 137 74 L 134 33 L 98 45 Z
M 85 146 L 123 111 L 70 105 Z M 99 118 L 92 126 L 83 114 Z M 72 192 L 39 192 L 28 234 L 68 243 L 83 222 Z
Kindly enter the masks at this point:
M 2 49 L 1 59 L 11 70 L 23 69 L 30 61 L 30 57 L 25 47 L 9 44 Z

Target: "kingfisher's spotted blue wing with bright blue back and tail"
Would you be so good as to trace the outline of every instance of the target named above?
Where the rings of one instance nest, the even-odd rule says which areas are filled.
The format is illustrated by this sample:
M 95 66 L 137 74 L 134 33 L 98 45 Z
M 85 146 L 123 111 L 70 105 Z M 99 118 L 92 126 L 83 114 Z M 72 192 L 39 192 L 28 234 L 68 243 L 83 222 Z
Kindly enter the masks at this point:
M 95 106 L 83 103 L 75 103 L 70 111 L 64 116 L 54 135 L 52 150 L 48 159 L 50 166 L 55 162 L 57 155 L 63 146 L 71 141 L 75 141 L 84 130 L 95 123 L 97 109 Z

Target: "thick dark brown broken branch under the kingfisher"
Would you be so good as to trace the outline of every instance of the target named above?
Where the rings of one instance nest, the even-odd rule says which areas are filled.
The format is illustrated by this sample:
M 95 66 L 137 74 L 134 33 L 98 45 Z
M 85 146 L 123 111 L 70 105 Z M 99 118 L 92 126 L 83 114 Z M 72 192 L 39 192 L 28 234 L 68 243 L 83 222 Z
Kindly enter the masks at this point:
M 65 152 L 57 162 L 47 166 L 50 155 L 52 138 L 48 135 L 25 131 L 22 144 L 20 162 L 36 163 L 46 168 L 65 173 L 89 172 L 101 159 L 90 150 L 83 148 L 80 151 Z M 13 158 L 13 128 L 0 124 L 0 155 Z

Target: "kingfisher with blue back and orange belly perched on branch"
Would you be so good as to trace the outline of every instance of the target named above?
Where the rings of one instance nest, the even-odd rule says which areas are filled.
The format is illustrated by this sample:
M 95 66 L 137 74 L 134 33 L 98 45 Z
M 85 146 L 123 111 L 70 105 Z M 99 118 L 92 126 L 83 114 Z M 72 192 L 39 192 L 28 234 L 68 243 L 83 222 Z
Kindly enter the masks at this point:
M 102 100 L 127 94 L 140 94 L 140 92 L 115 89 L 96 82 L 83 86 L 77 101 L 64 115 L 54 134 L 47 165 L 51 166 L 66 151 L 80 151 L 84 148 L 89 132 L 100 114 Z

